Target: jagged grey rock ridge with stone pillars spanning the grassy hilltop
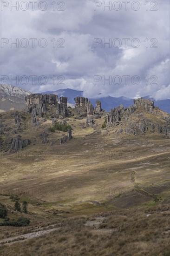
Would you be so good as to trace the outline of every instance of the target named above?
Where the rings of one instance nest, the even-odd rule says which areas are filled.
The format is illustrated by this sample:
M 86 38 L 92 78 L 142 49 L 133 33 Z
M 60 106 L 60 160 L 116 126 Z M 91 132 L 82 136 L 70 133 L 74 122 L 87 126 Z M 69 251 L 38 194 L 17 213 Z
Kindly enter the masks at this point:
M 72 116 L 74 117 L 72 118 Z M 10 118 L 6 121 L 7 114 L 0 115 L 0 145 L 5 152 L 16 152 L 33 143 L 29 136 L 25 135 L 26 128 L 34 127 L 39 131 L 41 143 L 63 144 L 74 137 L 74 125 L 69 128 L 67 121 L 83 120 L 79 126 L 82 129 L 91 127 L 97 134 L 109 135 L 129 134 L 146 135 L 162 134 L 170 137 L 170 115 L 159 108 L 154 107 L 154 102 L 143 98 L 134 100 L 134 104 L 128 108 L 123 105 L 112 108 L 110 112 L 105 112 L 101 107 L 101 102 L 96 101 L 94 108 L 87 98 L 77 97 L 75 108 L 69 108 L 67 98 L 55 94 L 30 94 L 26 95 L 26 110 L 10 112 Z M 104 123 L 98 118 L 103 118 Z M 52 126 L 65 127 L 66 134 L 61 130 L 50 130 Z M 45 126 L 44 126 L 45 124 Z M 43 128 L 45 127 L 45 128 Z M 67 129 L 68 128 L 68 129 Z M 53 133 L 53 134 L 52 134 Z M 57 138 L 55 139 L 55 135 Z

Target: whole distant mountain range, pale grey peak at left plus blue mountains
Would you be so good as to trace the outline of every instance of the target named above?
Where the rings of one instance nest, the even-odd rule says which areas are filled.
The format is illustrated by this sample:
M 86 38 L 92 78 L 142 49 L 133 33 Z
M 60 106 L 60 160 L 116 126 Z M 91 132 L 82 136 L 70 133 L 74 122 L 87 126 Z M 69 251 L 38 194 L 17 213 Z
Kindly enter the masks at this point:
M 8 110 L 21 110 L 25 108 L 25 96 L 32 94 L 32 92 L 24 90 L 19 87 L 11 86 L 11 85 L 0 85 L 0 111 L 8 111 Z M 66 96 L 68 98 L 68 102 L 70 104 L 75 105 L 74 98 L 77 96 L 85 96 L 83 95 L 83 91 L 73 90 L 70 88 L 59 89 L 56 91 L 46 91 L 41 92 L 40 94 L 57 94 L 60 96 Z M 144 99 L 150 99 L 154 101 L 155 107 L 162 109 L 163 111 L 170 113 L 170 99 L 155 101 L 149 95 L 143 97 Z M 101 101 L 101 106 L 105 111 L 110 111 L 111 108 L 115 108 L 122 104 L 125 108 L 133 105 L 133 99 L 127 97 L 100 97 L 98 95 L 99 101 Z M 92 105 L 95 106 L 95 98 L 89 98 L 89 101 L 92 102 Z M 72 105 L 71 105 L 72 106 Z

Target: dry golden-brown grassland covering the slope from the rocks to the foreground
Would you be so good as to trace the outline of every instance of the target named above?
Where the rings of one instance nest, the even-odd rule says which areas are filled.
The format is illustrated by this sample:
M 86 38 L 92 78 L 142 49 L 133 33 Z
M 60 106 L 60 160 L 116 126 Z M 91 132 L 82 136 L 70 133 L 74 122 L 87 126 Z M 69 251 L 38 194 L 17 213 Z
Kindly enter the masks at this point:
M 60 145 L 65 133 L 49 133 L 55 141 L 50 146 L 41 143 L 39 134 L 51 122 L 48 119 L 34 128 L 26 116 L 26 127 L 19 134 L 31 145 L 1 155 L 0 201 L 10 219 L 24 216 L 31 222 L 19 231 L 3 227 L 0 238 L 52 223 L 60 229 L 3 245 L 1 254 L 168 256 L 169 139 L 149 132 L 118 135 L 115 127 L 101 129 L 102 119 L 96 120 L 97 128 L 82 128 L 85 119 L 71 117 L 73 139 Z M 15 129 L 13 118 L 4 123 Z M 28 202 L 28 214 L 14 212 L 12 194 L 19 196 L 20 203 Z

